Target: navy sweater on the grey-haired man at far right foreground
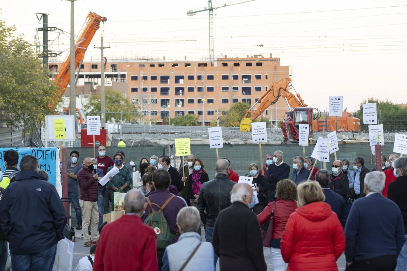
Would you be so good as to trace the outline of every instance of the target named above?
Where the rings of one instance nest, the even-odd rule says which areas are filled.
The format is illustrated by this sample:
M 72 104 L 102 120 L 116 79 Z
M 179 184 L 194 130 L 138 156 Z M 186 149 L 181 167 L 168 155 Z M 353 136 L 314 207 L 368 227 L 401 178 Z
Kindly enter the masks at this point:
M 345 226 L 346 262 L 396 255 L 406 240 L 398 206 L 381 193 L 357 199 Z

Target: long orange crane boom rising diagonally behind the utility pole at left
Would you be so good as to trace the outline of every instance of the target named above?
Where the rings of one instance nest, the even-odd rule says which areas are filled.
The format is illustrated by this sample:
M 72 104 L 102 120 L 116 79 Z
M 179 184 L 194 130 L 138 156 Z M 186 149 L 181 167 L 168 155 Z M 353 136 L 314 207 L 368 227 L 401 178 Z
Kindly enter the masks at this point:
M 100 28 L 100 23 L 106 21 L 106 17 L 99 16 L 94 12 L 89 12 L 88 17 L 86 17 L 85 23 L 79 31 L 80 34 L 75 43 L 75 70 L 77 70 L 79 65 L 82 64 L 83 58 L 85 57 L 85 52 L 86 50 L 88 50 L 89 44 L 92 41 L 96 30 Z M 51 105 L 53 106 L 53 108 L 57 108 L 57 105 L 62 98 L 63 92 L 65 91 L 66 87 L 68 87 L 70 80 L 70 69 L 70 54 L 68 54 L 65 61 L 63 61 L 58 74 L 54 78 L 54 82 L 58 84 L 59 89 L 57 92 L 55 103 Z M 63 112 L 68 113 L 69 108 L 64 108 Z M 75 119 L 77 120 L 78 124 L 86 122 L 86 118 L 84 117 L 83 112 L 78 108 L 76 108 Z

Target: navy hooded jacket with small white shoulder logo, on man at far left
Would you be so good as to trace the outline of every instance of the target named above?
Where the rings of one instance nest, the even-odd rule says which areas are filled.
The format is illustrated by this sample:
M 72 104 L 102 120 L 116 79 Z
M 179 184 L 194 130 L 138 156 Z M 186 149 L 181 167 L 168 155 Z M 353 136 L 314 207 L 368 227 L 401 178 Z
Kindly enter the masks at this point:
M 63 239 L 66 212 L 52 184 L 36 171 L 22 170 L 3 194 L 0 225 L 13 254 L 34 254 Z

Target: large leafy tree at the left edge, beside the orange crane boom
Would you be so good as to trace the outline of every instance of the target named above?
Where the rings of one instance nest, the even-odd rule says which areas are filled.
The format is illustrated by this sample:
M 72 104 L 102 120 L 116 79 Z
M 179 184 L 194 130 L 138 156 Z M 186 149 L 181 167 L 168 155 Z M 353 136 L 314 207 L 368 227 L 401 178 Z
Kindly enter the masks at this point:
M 15 27 L 0 20 L 0 108 L 12 132 L 24 124 L 22 133 L 33 134 L 54 115 L 57 85 L 32 49 L 32 44 L 15 36 Z

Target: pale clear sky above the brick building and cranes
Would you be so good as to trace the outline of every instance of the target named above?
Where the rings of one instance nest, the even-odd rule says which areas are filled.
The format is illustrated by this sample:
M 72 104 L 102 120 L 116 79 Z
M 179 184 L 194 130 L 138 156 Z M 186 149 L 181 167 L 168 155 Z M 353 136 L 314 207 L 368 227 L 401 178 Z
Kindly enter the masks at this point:
M 234 1 L 234 2 L 244 2 Z M 228 0 L 213 0 L 213 6 Z M 74 2 L 75 33 L 89 11 L 107 17 L 96 32 L 85 61 L 100 61 L 100 38 L 111 48 L 110 59 L 200 60 L 209 56 L 208 11 L 204 0 Z M 9 1 L 0 7 L 0 20 L 33 43 L 35 13 L 49 13 L 50 50 L 69 52 L 70 2 L 66 0 Z M 303 100 L 324 110 L 330 95 L 344 96 L 344 109 L 353 112 L 368 97 L 407 103 L 407 3 L 403 0 L 270 1 L 254 0 L 214 10 L 214 55 L 280 57 L 290 66 L 293 85 Z M 39 33 L 42 43 L 42 33 Z

